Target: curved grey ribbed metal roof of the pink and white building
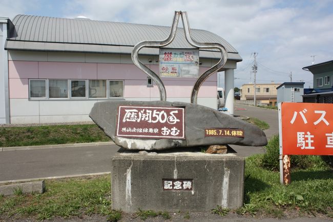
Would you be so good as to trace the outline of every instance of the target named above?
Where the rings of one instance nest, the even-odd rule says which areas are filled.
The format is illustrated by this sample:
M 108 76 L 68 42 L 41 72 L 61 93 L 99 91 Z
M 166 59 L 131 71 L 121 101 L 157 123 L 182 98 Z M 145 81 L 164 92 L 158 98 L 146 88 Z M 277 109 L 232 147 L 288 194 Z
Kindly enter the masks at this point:
M 7 50 L 71 51 L 94 53 L 131 53 L 141 41 L 162 40 L 169 36 L 171 27 L 93 21 L 78 18 L 16 15 L 15 30 L 7 38 Z M 228 59 L 241 61 L 237 50 L 222 37 L 205 30 L 191 29 L 198 42 L 222 44 Z M 167 48 L 193 48 L 185 39 L 183 28 L 178 28 L 174 41 Z M 140 54 L 158 54 L 156 48 L 145 48 Z M 220 58 L 217 50 L 200 50 L 201 57 Z

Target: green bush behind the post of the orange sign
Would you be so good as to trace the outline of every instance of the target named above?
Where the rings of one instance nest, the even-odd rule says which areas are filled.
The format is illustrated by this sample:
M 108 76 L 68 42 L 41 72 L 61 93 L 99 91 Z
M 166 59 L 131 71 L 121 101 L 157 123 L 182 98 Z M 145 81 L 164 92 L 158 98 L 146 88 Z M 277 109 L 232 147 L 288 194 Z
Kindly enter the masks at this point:
M 278 171 L 280 169 L 279 146 L 279 135 L 272 136 L 265 146 L 265 153 L 261 158 L 261 166 L 263 168 L 274 171 Z M 290 155 L 290 167 L 304 169 L 309 166 L 309 156 Z

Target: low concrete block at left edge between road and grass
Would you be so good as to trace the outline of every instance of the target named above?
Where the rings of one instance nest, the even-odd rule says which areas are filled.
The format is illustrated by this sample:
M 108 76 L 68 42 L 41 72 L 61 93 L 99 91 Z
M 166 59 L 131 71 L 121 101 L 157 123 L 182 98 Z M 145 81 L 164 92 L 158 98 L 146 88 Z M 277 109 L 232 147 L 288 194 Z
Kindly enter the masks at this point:
M 45 183 L 44 180 L 40 180 L 0 186 L 0 194 L 4 196 L 13 195 L 15 190 L 22 190 L 23 193 L 44 193 Z

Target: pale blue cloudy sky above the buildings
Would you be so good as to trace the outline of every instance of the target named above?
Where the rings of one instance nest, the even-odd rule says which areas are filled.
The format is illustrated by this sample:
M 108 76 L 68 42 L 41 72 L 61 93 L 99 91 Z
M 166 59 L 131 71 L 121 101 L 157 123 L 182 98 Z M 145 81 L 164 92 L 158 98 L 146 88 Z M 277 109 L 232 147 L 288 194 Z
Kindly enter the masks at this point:
M 257 83 L 305 82 L 313 74 L 303 67 L 333 60 L 333 0 L 2 0 L 0 16 L 17 14 L 171 26 L 174 11 L 188 12 L 190 27 L 211 31 L 243 58 L 235 70 L 235 87 Z M 312 57 L 311 57 L 312 56 Z M 220 86 L 224 74 L 220 73 Z

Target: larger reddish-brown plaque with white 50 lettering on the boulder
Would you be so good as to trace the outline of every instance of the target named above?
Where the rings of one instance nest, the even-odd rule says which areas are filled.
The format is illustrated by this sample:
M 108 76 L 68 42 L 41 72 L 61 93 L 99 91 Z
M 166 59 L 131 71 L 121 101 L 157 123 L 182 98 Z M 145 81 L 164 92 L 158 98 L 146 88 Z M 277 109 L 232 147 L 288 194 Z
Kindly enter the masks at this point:
M 184 108 L 118 107 L 116 136 L 185 139 Z

